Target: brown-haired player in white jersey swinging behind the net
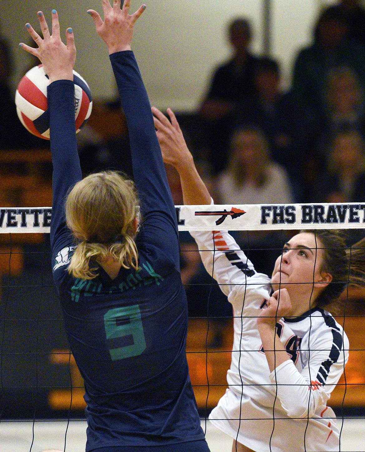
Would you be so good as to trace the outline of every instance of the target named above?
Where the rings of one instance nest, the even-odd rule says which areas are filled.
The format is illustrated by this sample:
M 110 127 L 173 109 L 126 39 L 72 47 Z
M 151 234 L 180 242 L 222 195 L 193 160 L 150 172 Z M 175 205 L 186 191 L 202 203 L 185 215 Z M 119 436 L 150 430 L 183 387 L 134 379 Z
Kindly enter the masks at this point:
M 210 204 L 174 114 L 168 110 L 170 123 L 152 111 L 184 202 Z M 350 260 L 339 232 L 301 232 L 284 245 L 270 279 L 256 273 L 227 232 L 192 235 L 234 310 L 229 389 L 209 416 L 212 424 L 233 438 L 232 451 L 338 451 L 340 432 L 327 400 L 349 343 L 327 308 L 346 282 L 364 282 L 364 245 L 354 245 Z

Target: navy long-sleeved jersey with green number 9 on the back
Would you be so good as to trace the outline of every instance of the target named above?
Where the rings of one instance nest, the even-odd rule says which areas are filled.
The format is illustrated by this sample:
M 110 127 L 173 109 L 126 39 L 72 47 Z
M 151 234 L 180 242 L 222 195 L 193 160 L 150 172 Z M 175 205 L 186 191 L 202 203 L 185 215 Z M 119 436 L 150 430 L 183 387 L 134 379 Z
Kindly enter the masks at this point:
M 66 333 L 85 380 L 86 451 L 204 439 L 185 354 L 179 238 L 151 107 L 133 52 L 110 55 L 127 118 L 142 226 L 138 269 L 92 280 L 67 272 L 74 240 L 65 198 L 81 179 L 73 83 L 48 87 L 53 160 L 52 265 Z

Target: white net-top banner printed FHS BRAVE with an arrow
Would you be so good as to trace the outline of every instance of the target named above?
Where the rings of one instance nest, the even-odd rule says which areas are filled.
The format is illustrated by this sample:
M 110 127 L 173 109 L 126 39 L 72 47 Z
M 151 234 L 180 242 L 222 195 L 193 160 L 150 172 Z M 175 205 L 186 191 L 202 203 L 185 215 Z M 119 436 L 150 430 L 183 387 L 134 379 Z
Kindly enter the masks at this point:
M 179 231 L 365 228 L 365 203 L 176 206 Z M 0 208 L 0 233 L 49 232 L 51 207 Z

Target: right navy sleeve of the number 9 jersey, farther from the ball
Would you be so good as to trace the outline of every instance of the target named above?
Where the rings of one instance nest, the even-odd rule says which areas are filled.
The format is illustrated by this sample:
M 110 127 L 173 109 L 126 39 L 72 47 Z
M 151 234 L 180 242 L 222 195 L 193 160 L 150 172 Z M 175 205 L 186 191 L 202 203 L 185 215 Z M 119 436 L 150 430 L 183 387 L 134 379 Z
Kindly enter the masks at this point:
M 110 55 L 126 116 L 134 181 L 140 198 L 143 242 L 166 250 L 180 271 L 175 206 L 167 182 L 151 105 L 132 51 Z

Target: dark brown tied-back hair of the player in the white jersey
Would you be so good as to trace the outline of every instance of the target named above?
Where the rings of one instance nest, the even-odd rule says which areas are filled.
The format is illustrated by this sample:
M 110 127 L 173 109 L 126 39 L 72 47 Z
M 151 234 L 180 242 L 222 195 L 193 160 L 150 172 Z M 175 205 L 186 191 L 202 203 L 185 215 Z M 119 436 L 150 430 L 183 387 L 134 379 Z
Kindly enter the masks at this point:
M 348 285 L 365 285 L 365 238 L 354 245 L 346 245 L 346 234 L 339 230 L 303 230 L 314 234 L 323 251 L 322 272 L 330 273 L 332 281 L 319 294 L 316 306 L 329 308 L 332 314 L 342 311 L 341 293 Z

